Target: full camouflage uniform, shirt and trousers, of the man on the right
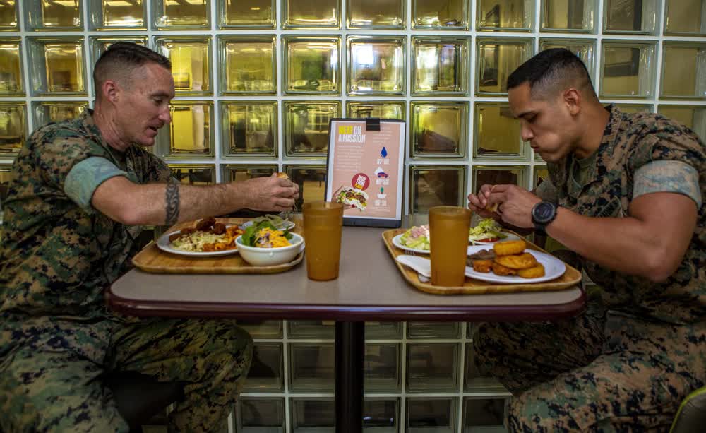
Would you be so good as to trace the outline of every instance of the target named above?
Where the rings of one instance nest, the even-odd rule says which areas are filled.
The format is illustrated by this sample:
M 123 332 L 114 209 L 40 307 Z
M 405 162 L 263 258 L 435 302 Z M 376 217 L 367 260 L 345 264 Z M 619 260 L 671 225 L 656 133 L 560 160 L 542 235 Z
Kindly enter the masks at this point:
M 548 164 L 537 194 L 581 215 L 622 218 L 636 196 L 677 192 L 695 200 L 696 229 L 664 283 L 582 259 L 601 287 L 588 293 L 584 314 L 480 326 L 476 362 L 513 393 L 510 431 L 666 431 L 682 399 L 706 383 L 706 149 L 657 114 L 608 109 L 587 182 L 573 183 L 569 156 Z

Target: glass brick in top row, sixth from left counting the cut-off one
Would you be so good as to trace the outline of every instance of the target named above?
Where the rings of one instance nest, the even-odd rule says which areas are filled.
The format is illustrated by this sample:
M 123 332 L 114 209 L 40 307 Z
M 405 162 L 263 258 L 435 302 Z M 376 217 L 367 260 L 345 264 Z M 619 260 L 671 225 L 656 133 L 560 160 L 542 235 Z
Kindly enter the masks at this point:
M 341 0 L 282 0 L 282 28 L 341 28 Z

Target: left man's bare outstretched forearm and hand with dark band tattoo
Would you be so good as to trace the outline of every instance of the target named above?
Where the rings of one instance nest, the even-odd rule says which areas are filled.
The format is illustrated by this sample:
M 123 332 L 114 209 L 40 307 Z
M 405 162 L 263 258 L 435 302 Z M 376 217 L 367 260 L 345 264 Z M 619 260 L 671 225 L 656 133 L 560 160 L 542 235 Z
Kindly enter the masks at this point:
M 142 185 L 117 176 L 95 189 L 91 204 L 126 225 L 171 225 L 242 208 L 279 212 L 292 208 L 297 197 L 299 186 L 277 177 L 193 186 L 176 180 Z

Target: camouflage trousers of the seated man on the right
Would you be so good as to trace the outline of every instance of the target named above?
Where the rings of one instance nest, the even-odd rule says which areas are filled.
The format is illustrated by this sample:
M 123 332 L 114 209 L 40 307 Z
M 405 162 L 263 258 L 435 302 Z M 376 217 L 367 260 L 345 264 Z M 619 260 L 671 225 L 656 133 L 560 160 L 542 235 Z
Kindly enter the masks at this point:
M 480 372 L 513 393 L 510 432 L 666 432 L 706 382 L 705 325 L 611 313 L 482 324 L 474 352 Z

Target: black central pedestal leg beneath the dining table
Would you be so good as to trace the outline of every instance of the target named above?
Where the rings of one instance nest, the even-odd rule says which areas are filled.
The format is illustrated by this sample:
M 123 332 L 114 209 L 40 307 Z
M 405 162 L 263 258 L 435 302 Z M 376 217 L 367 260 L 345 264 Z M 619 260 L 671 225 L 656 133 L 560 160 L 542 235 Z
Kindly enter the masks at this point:
M 363 429 L 365 322 L 336 322 L 336 433 Z

